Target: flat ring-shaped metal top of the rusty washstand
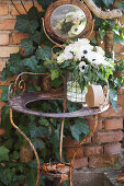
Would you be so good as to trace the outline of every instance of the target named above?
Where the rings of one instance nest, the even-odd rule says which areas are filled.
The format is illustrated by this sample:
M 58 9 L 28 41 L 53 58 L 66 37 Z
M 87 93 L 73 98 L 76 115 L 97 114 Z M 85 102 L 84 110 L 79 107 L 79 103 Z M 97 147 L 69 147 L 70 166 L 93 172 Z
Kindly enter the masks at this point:
M 105 112 L 109 108 L 109 105 L 105 105 L 101 108 L 89 108 L 89 107 L 82 107 L 79 111 L 71 112 L 71 113 L 43 113 L 43 112 L 36 112 L 27 108 L 29 103 L 33 103 L 36 101 L 44 101 L 44 100 L 64 100 L 64 95 L 53 95 L 52 94 L 44 94 L 41 92 L 29 92 L 29 93 L 22 93 L 18 96 L 14 96 L 9 100 L 9 106 L 20 113 L 30 114 L 34 116 L 44 116 L 44 117 L 81 117 L 81 116 L 89 116 L 89 115 L 97 115 L 99 113 Z

